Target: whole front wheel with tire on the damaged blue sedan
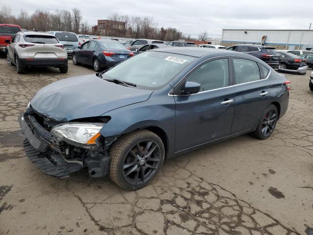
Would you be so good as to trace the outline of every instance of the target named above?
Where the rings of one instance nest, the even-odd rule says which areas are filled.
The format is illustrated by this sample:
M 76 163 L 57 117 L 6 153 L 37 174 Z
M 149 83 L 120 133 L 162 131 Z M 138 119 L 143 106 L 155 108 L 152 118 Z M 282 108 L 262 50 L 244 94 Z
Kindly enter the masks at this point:
M 140 130 L 122 135 L 109 149 L 110 178 L 120 188 L 143 188 L 159 172 L 164 156 L 164 144 L 155 133 Z

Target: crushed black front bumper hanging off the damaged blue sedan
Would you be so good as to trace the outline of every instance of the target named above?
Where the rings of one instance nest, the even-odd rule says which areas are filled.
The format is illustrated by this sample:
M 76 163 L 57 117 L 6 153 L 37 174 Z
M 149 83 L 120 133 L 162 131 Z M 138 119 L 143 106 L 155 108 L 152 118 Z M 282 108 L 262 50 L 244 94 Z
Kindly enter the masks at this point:
M 19 116 L 26 156 L 45 174 L 66 178 L 69 173 L 83 168 L 82 164 L 68 163 L 63 158 L 62 141 L 46 131 L 32 116 Z

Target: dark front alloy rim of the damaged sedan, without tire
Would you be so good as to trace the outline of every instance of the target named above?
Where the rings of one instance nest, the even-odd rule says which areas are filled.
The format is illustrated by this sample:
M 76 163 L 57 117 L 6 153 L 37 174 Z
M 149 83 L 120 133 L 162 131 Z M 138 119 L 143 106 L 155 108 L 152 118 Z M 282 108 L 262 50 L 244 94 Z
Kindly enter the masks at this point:
M 123 177 L 132 185 L 143 184 L 154 176 L 160 165 L 161 150 L 156 141 L 135 144 L 125 157 Z

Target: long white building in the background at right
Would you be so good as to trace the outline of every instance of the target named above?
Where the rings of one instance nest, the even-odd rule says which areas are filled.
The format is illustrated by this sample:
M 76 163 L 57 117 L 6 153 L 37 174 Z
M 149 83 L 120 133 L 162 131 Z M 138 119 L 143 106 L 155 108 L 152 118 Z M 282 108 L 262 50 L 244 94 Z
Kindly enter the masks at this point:
M 279 49 L 313 48 L 313 30 L 305 29 L 223 29 L 223 46 L 263 44 Z

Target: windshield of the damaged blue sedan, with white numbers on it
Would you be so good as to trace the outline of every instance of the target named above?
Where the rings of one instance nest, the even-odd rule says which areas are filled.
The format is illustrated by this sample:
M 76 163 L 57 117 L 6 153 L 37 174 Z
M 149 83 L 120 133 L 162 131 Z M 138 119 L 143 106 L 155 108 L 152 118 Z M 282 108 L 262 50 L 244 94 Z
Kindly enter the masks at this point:
M 167 84 L 193 57 L 146 51 L 118 64 L 104 74 L 104 79 L 119 79 L 143 88 L 157 90 Z

